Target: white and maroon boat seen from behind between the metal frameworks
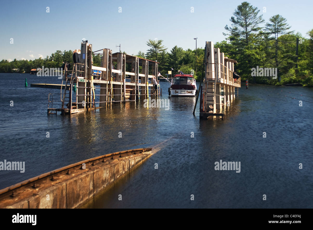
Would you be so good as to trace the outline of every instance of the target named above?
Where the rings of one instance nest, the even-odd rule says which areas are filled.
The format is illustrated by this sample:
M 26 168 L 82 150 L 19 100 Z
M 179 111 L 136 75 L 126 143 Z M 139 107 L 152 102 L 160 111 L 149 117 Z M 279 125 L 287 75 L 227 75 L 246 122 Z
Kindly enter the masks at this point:
M 169 96 L 195 96 L 197 93 L 196 80 L 191 74 L 175 74 L 168 88 Z

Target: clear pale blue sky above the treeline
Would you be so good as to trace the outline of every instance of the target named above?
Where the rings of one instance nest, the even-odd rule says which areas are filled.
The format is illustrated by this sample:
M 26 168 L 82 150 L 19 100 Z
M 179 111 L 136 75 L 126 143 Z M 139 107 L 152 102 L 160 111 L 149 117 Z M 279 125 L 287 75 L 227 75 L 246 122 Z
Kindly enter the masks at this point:
M 0 60 L 45 58 L 56 50 L 80 49 L 83 38 L 93 50 L 146 53 L 149 39 L 162 39 L 169 52 L 204 48 L 206 41 L 225 40 L 225 25 L 243 1 L 1 1 Z M 312 0 L 248 1 L 265 22 L 275 14 L 302 36 L 313 28 Z M 49 7 L 49 13 L 47 12 Z M 263 13 L 263 11 L 266 12 Z M 13 38 L 13 40 L 12 40 Z M 13 41 L 13 44 L 12 44 Z

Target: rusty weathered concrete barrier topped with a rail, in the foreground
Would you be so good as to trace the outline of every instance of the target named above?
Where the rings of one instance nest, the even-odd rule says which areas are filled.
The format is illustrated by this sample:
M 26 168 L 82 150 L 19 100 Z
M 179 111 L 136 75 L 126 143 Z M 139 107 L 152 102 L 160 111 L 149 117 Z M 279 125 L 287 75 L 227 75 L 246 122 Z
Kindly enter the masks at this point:
M 0 190 L 0 208 L 76 208 L 151 156 L 151 148 L 111 153 Z

